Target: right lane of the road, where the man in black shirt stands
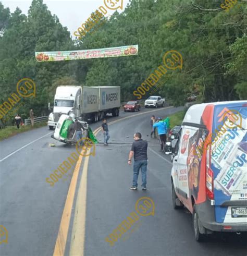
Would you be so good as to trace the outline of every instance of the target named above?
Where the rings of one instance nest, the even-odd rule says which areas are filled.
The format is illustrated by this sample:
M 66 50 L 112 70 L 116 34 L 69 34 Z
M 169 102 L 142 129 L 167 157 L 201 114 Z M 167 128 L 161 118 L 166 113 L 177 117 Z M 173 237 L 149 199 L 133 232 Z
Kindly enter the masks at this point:
M 169 112 L 171 109 L 166 109 Z M 160 112 L 154 113 L 160 115 Z M 166 115 L 164 112 L 163 115 Z M 85 227 L 83 197 L 78 194 L 75 205 L 77 220 L 73 220 L 71 242 L 67 254 L 82 255 L 246 255 L 246 234 L 214 234 L 207 242 L 194 240 L 192 216 L 187 210 L 174 210 L 171 203 L 171 163 L 169 156 L 158 152 L 159 144 L 150 138 L 149 116 L 125 119 L 109 126 L 108 147 L 98 145 L 90 157 L 87 177 L 87 206 Z M 133 133 L 141 132 L 149 141 L 147 191 L 132 191 L 132 166 L 128 153 Z M 103 140 L 99 132 L 97 138 Z M 83 172 L 85 168 L 83 168 Z M 83 179 L 82 179 L 83 181 Z M 85 184 L 84 184 L 85 185 Z M 85 190 L 84 190 L 85 191 Z M 141 216 L 137 226 L 124 238 L 110 246 L 105 238 L 135 210 L 135 202 L 143 196 L 155 203 L 154 216 Z M 85 228 L 85 233 L 82 231 Z M 112 240 L 112 239 L 110 239 Z M 69 250 L 68 250 L 68 247 Z M 66 254 L 66 255 L 67 255 Z

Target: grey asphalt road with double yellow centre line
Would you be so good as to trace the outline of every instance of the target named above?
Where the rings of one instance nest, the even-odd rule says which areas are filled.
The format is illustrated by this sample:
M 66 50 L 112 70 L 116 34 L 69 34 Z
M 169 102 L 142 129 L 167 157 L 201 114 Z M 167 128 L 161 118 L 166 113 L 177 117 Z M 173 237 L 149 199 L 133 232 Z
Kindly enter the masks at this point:
M 172 209 L 171 163 L 169 156 L 158 152 L 158 140 L 150 138 L 149 122 L 151 114 L 167 116 L 179 110 L 142 109 L 109 118 L 113 121 L 109 146 L 97 144 L 94 156 L 79 159 L 79 172 L 53 187 L 45 179 L 75 152 L 74 147 L 53 140 L 47 127 L 0 142 L 0 225 L 8 230 L 8 243 L 0 245 L 0 255 L 245 256 L 246 235 L 215 234 L 197 243 L 191 214 Z M 98 126 L 91 125 L 93 130 Z M 139 190 L 129 189 L 132 166 L 127 160 L 137 131 L 149 142 L 147 191 L 140 189 L 141 177 Z M 96 137 L 103 141 L 101 131 Z M 110 246 L 105 238 L 135 211 L 141 197 L 153 200 L 154 215 L 140 216 Z

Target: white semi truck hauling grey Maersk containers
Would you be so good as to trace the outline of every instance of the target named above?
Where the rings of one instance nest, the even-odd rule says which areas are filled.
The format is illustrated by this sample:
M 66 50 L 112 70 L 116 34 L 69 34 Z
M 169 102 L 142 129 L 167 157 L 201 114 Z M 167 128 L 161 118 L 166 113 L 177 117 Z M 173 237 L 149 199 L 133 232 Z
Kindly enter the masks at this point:
M 106 114 L 119 116 L 120 87 L 59 86 L 54 97 L 48 127 L 54 129 L 62 114 L 73 113 L 83 121 L 97 122 Z

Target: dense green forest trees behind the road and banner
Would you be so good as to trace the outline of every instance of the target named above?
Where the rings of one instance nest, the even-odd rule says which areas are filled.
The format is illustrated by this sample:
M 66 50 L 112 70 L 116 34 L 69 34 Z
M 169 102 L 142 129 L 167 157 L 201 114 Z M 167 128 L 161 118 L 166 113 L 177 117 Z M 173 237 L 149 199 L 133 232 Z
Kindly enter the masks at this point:
M 183 68 L 169 70 L 170 78 L 157 94 L 175 105 L 184 104 L 188 93 L 197 94 L 199 102 L 247 99 L 247 2 L 238 1 L 229 11 L 221 3 L 131 0 L 122 13 L 115 11 L 100 28 L 73 40 L 43 0 L 33 0 L 27 16 L 19 8 L 10 13 L 0 2 L 0 102 L 24 77 L 35 81 L 36 97 L 22 100 L 23 116 L 31 107 L 36 116 L 47 113 L 47 103 L 63 84 L 120 86 L 121 101 L 134 100 L 133 91 L 170 50 L 181 53 Z M 34 55 L 134 44 L 139 45 L 139 55 L 125 58 L 39 63 Z

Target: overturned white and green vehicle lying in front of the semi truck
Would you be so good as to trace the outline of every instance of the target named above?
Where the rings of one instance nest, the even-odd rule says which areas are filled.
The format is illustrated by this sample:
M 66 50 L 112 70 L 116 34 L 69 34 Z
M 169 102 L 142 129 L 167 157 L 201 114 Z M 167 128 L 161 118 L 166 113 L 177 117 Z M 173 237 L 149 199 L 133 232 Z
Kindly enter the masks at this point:
M 75 115 L 70 114 L 70 115 L 61 115 L 57 126 L 55 128 L 55 132 L 51 136 L 53 139 L 67 143 L 67 144 L 72 144 L 75 145 L 77 143 L 76 140 L 76 130 L 71 132 L 69 129 L 70 126 L 75 123 Z M 88 138 L 89 137 L 89 132 L 91 129 L 89 128 L 89 125 L 85 121 L 81 121 L 78 119 L 78 122 L 82 124 L 83 129 L 82 131 L 82 138 Z

